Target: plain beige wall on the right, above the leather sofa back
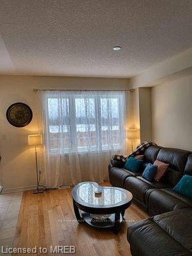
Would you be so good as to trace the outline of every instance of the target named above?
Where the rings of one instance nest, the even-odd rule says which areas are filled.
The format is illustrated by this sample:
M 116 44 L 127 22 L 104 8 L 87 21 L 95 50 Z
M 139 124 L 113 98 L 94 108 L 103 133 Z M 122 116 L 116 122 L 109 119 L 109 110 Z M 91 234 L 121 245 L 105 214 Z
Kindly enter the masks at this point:
M 152 89 L 152 137 L 162 146 L 192 150 L 192 76 Z

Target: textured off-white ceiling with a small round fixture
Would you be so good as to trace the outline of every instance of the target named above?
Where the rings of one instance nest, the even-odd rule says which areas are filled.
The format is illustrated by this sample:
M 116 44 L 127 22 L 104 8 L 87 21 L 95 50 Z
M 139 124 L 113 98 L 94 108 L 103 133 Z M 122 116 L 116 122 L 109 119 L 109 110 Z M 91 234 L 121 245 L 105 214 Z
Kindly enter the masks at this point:
M 131 77 L 191 31 L 191 0 L 0 0 L 0 73 Z

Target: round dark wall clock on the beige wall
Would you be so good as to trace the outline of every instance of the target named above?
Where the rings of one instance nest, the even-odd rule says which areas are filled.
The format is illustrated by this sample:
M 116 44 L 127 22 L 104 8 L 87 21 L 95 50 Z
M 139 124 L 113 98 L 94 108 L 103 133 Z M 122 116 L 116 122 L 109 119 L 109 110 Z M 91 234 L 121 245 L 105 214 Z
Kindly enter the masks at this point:
M 13 126 L 24 127 L 31 122 L 33 112 L 27 104 L 16 102 L 9 106 L 6 112 L 6 117 Z

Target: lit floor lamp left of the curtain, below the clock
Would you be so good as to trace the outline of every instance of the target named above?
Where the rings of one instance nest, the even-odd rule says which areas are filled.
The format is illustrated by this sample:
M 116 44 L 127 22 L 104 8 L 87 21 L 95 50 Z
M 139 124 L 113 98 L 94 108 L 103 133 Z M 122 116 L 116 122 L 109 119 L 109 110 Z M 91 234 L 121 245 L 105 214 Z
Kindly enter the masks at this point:
M 33 194 L 39 194 L 44 192 L 44 188 L 39 185 L 39 170 L 38 170 L 38 161 L 37 161 L 37 146 L 42 145 L 42 135 L 33 134 L 28 135 L 28 145 L 35 146 L 35 167 L 36 167 L 36 178 L 37 178 L 37 187 L 33 190 Z

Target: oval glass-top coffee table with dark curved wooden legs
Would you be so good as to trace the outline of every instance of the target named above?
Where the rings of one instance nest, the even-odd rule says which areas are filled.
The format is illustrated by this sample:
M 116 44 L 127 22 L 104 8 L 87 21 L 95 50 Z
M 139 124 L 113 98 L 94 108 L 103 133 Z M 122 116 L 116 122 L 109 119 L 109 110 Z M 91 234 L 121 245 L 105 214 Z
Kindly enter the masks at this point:
M 73 207 L 79 223 L 119 231 L 125 209 L 132 194 L 119 187 L 99 186 L 96 182 L 81 182 L 72 190 Z

